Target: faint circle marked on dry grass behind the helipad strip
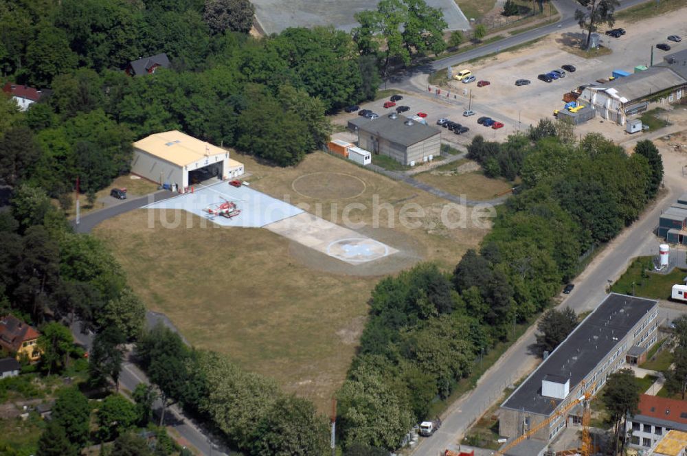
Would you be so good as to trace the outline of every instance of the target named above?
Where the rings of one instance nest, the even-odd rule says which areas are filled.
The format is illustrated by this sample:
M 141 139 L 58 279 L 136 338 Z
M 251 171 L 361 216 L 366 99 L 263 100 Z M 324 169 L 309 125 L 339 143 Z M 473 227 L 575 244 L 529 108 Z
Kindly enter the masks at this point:
M 293 179 L 291 188 L 300 196 L 322 200 L 357 198 L 365 192 L 365 182 L 343 172 L 311 172 Z

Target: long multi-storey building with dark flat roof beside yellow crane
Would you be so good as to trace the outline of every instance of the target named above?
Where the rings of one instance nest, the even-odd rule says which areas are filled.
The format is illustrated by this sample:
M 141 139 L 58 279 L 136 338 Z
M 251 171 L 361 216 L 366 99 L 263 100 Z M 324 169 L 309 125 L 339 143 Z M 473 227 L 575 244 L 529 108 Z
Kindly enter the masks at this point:
M 502 404 L 499 433 L 512 439 L 552 418 L 530 436 L 549 442 L 564 426 L 579 424 L 581 407 L 559 411 L 587 389 L 595 394 L 624 365 L 632 347 L 646 349 L 655 343 L 657 317 L 653 299 L 607 295 Z

